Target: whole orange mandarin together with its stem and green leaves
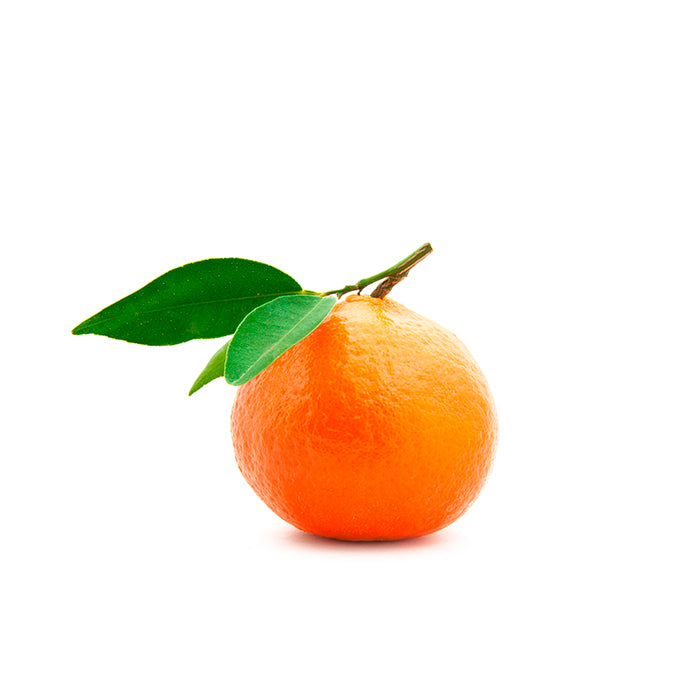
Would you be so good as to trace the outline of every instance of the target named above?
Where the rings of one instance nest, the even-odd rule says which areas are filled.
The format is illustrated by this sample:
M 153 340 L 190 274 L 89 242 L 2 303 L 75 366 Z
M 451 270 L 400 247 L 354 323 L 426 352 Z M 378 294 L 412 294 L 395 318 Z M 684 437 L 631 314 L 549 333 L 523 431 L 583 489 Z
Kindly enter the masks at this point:
M 386 298 L 431 252 L 426 243 L 327 292 L 254 260 L 201 260 L 73 333 L 144 345 L 226 337 L 189 393 L 220 377 L 238 387 L 236 462 L 266 505 L 324 537 L 427 535 L 473 503 L 497 442 L 493 397 L 467 348 Z

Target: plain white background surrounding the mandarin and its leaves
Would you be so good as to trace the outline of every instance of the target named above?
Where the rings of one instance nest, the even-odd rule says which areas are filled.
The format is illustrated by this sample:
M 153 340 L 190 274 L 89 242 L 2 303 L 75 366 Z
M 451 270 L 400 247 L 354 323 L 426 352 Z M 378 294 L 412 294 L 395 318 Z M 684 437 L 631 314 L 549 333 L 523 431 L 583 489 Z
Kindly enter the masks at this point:
M 695 2 L 0 11 L 0 695 L 697 698 Z M 185 262 L 392 297 L 469 346 L 492 478 L 345 544 L 238 473 L 218 340 L 70 329 Z

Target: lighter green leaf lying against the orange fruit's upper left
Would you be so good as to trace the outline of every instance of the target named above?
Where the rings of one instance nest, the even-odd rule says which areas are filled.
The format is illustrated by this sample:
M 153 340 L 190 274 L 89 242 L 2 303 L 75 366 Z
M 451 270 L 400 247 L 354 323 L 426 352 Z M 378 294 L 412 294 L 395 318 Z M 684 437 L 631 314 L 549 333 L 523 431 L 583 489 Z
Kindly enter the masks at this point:
M 334 297 L 283 296 L 251 311 L 238 326 L 226 353 L 224 376 L 245 384 L 313 331 L 330 313 Z

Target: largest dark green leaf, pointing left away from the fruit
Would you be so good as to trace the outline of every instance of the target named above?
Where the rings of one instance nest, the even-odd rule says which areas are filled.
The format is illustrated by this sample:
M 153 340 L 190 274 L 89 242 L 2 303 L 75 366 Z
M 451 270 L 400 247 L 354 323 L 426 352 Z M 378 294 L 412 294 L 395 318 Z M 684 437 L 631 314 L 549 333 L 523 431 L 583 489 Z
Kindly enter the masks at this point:
M 73 329 L 143 345 L 175 345 L 233 333 L 256 306 L 301 286 L 281 270 L 244 258 L 177 267 Z

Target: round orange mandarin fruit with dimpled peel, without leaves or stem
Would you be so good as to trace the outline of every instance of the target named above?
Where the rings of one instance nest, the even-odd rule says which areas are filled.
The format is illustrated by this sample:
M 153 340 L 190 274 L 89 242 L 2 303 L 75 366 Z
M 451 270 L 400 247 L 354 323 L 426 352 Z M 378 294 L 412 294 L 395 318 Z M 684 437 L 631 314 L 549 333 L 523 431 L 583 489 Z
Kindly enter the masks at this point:
M 486 379 L 449 331 L 354 295 L 240 387 L 238 466 L 287 522 L 343 540 L 426 535 L 479 494 L 496 447 Z

